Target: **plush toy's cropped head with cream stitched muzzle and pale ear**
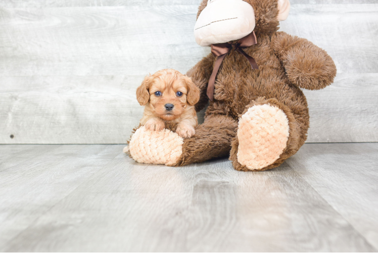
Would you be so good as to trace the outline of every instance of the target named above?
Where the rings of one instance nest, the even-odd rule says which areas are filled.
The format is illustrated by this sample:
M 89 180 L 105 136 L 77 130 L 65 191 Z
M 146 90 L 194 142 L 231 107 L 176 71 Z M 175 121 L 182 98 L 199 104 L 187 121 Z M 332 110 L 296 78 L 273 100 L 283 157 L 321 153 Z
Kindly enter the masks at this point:
M 203 0 L 194 28 L 200 46 L 256 36 L 278 30 L 289 15 L 289 0 Z

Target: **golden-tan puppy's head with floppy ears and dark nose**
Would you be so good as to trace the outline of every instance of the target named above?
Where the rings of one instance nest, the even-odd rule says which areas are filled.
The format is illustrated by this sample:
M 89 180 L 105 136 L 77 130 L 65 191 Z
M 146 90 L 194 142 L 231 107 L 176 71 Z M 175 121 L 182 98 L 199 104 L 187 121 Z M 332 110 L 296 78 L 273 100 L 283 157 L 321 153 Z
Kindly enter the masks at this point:
M 200 90 L 191 78 L 173 69 L 163 69 L 147 76 L 136 90 L 140 105 L 164 120 L 178 118 L 187 108 L 200 99 Z

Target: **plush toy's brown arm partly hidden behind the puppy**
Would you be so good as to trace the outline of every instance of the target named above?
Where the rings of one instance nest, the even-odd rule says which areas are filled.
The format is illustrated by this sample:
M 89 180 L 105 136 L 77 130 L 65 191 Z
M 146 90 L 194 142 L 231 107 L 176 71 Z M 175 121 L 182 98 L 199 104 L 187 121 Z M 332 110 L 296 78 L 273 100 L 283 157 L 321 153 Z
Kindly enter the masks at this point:
M 214 62 L 215 57 L 212 54 L 209 54 L 186 73 L 188 77 L 192 78 L 195 85 L 200 88 L 200 100 L 195 106 L 196 111 L 201 111 L 205 108 L 209 100 L 206 95 L 206 90 L 213 71 Z

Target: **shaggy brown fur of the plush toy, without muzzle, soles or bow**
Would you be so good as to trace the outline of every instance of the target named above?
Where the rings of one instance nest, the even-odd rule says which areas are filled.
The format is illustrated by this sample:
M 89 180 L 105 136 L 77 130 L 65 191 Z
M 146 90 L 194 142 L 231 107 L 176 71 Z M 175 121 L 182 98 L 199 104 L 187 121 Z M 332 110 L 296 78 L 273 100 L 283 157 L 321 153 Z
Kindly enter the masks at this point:
M 244 51 L 256 59 L 259 69 L 251 69 L 243 55 L 232 49 L 218 71 L 214 100 L 206 111 L 205 122 L 196 134 L 185 139 L 176 165 L 201 162 L 230 154 L 236 170 L 250 171 L 238 162 L 238 120 L 254 105 L 270 104 L 280 108 L 289 119 L 287 147 L 273 164 L 279 166 L 304 144 L 309 128 L 307 101 L 300 88 L 319 90 L 330 85 L 336 66 L 324 50 L 310 41 L 278 30 L 276 0 L 245 0 L 255 10 L 257 45 Z M 206 7 L 204 0 L 197 17 Z M 207 84 L 215 57 L 209 54 L 187 72 L 201 90 L 196 110 L 208 103 Z M 229 153 L 230 152 L 230 153 Z

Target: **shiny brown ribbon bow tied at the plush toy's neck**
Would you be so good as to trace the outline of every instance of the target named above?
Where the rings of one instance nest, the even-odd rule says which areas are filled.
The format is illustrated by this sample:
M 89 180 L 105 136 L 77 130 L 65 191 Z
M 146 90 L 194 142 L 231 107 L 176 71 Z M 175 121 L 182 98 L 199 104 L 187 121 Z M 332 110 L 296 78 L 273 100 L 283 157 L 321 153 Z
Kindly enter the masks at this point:
M 215 77 L 218 73 L 220 64 L 222 64 L 222 61 L 224 57 L 226 56 L 226 54 L 230 52 L 232 45 L 234 45 L 235 50 L 238 50 L 239 53 L 241 53 L 247 58 L 247 60 L 251 64 L 252 69 L 259 69 L 259 66 L 257 66 L 255 59 L 243 51 L 243 48 L 248 48 L 255 44 L 257 44 L 257 39 L 256 39 L 256 34 L 253 31 L 249 35 L 239 39 L 236 44 L 231 44 L 227 42 L 227 43 L 211 45 L 211 53 L 217 57 L 214 68 L 213 68 L 213 73 L 211 74 L 210 79 L 209 79 L 209 85 L 207 86 L 207 93 L 206 93 L 211 101 L 213 101 Z

